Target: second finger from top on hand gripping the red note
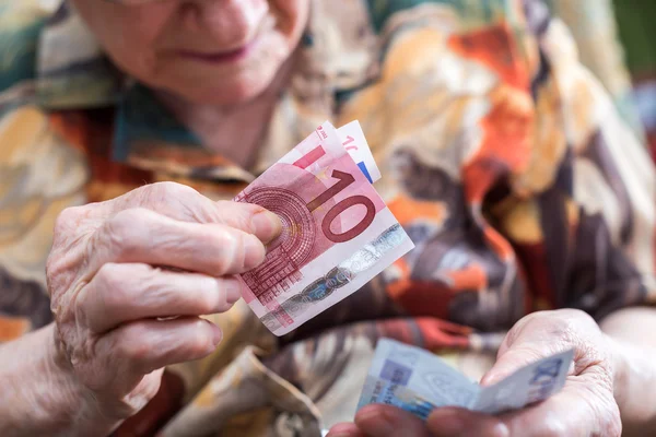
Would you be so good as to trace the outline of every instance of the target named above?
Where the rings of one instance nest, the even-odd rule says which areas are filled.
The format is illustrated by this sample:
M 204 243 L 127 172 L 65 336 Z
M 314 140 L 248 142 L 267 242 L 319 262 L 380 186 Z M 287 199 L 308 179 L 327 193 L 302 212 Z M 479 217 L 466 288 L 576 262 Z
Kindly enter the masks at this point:
M 250 234 L 219 224 L 178 222 L 145 209 L 124 210 L 96 231 L 87 274 L 108 262 L 167 265 L 221 276 L 248 271 L 266 255 Z

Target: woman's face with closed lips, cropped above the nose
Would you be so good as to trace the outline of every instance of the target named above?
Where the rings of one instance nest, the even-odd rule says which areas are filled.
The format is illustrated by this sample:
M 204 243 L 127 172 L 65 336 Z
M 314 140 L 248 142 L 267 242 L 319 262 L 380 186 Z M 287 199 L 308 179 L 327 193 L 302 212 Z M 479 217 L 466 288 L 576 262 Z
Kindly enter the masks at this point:
M 119 69 L 152 87 L 216 105 L 248 101 L 271 83 L 309 9 L 309 0 L 73 3 Z

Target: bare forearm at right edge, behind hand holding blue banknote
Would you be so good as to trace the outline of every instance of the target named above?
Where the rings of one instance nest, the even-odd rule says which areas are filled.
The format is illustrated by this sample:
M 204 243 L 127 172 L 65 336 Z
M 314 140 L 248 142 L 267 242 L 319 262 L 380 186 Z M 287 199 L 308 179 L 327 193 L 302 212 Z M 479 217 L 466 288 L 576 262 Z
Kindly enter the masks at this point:
M 618 351 L 614 397 L 624 435 L 656 434 L 656 309 L 622 309 L 599 326 Z

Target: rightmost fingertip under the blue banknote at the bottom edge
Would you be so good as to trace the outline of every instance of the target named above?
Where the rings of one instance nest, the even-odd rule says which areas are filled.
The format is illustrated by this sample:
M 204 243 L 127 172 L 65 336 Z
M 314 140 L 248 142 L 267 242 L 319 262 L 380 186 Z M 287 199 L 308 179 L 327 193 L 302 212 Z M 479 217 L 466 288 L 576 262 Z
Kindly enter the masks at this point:
M 437 409 L 426 420 L 431 435 L 435 437 L 507 437 L 507 426 L 494 416 L 469 410 Z

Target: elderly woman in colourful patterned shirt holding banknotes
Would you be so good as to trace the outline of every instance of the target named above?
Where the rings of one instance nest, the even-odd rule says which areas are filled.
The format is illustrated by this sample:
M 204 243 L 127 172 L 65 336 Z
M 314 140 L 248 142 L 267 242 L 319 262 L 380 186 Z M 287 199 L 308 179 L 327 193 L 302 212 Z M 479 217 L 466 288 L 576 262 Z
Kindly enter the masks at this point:
M 655 170 L 541 0 L 59 3 L 0 2 L 0 435 L 656 432 Z M 325 119 L 417 249 L 277 339 L 234 275 L 281 225 L 230 199 Z M 575 365 L 516 413 L 349 423 L 382 336 L 482 383 Z

